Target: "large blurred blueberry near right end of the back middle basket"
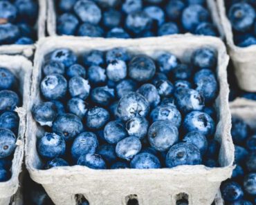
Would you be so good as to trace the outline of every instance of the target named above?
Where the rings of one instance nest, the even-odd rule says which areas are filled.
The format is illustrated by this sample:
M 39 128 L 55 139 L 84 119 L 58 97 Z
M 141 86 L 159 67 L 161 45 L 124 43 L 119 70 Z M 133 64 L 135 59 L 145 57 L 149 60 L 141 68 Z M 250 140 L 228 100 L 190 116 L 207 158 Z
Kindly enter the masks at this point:
M 208 22 L 209 20 L 210 14 L 208 10 L 199 4 L 193 4 L 185 8 L 181 18 L 183 28 L 190 32 L 193 32 L 199 26 L 199 23 Z

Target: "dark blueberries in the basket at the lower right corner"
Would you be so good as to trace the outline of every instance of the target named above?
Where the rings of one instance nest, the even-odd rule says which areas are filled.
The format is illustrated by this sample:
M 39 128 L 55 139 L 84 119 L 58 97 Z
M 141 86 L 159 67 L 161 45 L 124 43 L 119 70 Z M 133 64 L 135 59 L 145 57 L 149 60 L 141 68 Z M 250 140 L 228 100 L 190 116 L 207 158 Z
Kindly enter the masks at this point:
M 256 135 L 246 122 L 232 117 L 231 135 L 235 144 L 232 179 L 221 184 L 223 199 L 228 205 L 256 204 Z

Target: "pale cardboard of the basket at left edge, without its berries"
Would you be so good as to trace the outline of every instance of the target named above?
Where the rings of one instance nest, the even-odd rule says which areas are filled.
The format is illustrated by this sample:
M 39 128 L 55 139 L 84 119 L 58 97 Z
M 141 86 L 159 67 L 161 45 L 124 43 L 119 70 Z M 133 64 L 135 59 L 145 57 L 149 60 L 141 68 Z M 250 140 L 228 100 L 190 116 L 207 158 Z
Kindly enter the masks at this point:
M 0 205 L 17 202 L 15 193 L 19 188 L 19 174 L 24 157 L 24 135 L 26 130 L 26 108 L 30 95 L 32 62 L 23 56 L 0 55 L 0 67 L 8 68 L 19 80 L 19 96 L 22 98 L 22 107 L 16 108 L 19 115 L 19 132 L 17 148 L 12 159 L 12 176 L 7 182 L 0 182 Z

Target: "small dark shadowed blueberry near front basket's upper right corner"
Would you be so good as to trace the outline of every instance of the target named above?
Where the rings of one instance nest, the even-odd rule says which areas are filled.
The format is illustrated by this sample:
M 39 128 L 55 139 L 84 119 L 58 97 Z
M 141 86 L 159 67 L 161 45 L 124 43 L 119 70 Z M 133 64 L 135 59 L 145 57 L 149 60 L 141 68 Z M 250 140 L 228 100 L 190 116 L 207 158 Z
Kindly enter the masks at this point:
M 186 64 L 178 64 L 172 70 L 172 78 L 176 80 L 188 80 L 192 77 L 192 68 Z

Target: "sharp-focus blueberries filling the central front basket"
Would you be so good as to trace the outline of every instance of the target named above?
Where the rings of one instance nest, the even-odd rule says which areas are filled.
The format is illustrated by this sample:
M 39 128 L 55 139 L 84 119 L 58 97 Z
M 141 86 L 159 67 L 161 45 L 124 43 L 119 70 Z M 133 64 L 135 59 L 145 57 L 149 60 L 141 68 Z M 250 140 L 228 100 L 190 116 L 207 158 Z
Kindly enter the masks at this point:
M 37 138 L 45 169 L 218 166 L 212 48 L 194 50 L 190 64 L 170 52 L 152 59 L 125 48 L 91 50 L 77 62 L 61 48 L 42 67 L 45 101 L 31 111 L 46 131 Z

